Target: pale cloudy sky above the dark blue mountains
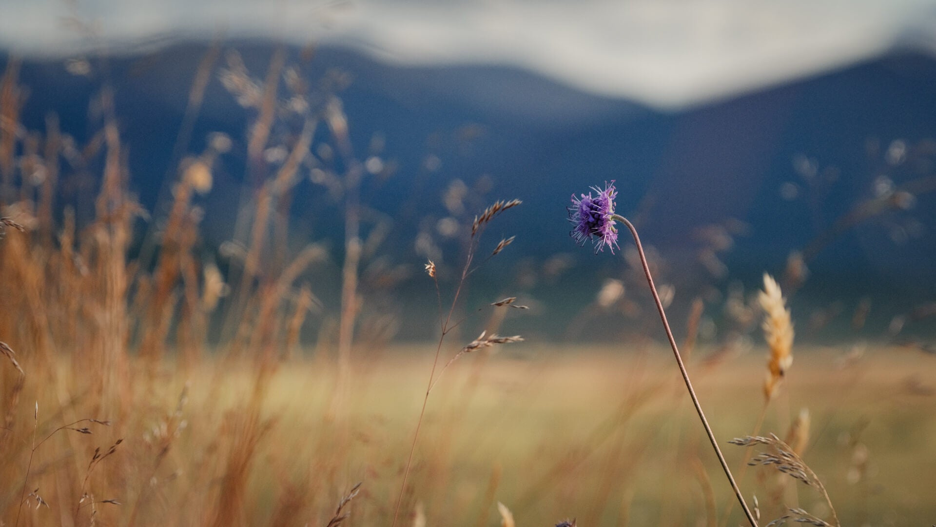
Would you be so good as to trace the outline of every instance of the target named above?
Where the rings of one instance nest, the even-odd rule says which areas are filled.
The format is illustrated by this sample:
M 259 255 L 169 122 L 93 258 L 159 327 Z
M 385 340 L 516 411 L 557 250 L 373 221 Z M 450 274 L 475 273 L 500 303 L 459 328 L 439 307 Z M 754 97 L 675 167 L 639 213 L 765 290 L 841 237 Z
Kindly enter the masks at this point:
M 936 53 L 933 0 L 0 0 L 0 48 L 69 56 L 183 38 L 336 44 L 402 65 L 526 68 L 680 110 L 844 68 Z

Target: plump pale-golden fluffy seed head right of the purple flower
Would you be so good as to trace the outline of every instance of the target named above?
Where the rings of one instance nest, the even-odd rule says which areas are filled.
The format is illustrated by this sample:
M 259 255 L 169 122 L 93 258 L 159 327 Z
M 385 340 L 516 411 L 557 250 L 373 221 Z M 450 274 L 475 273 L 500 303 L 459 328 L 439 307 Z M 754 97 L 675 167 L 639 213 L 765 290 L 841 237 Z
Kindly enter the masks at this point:
M 764 274 L 764 291 L 757 294 L 757 301 L 765 312 L 764 339 L 770 348 L 769 371 L 764 382 L 764 397 L 769 400 L 793 364 L 793 323 L 780 285 L 767 273 Z

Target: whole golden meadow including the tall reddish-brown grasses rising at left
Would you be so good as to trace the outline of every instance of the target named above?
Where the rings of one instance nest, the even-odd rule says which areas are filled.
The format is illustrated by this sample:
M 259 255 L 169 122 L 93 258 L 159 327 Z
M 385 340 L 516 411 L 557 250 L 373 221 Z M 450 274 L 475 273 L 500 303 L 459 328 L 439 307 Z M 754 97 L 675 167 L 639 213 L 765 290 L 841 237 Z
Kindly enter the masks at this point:
M 16 61 L 7 64 L 3 525 L 743 524 L 659 321 L 601 343 L 496 336 L 512 333 L 507 315 L 526 308 L 522 297 L 477 302 L 468 293 L 475 272 L 511 249 L 513 237 L 485 231 L 519 201 L 463 200 L 452 213 L 458 260 L 427 259 L 412 273 L 437 288 L 425 303 L 438 307 L 438 320 L 423 324 L 438 328 L 439 340 L 392 339 L 381 303 L 393 300 L 399 269 L 380 258 L 386 229 L 361 191 L 384 167 L 377 153 L 356 153 L 340 82 L 310 87 L 284 54 L 259 77 L 236 53 L 226 66 L 220 56 L 219 48 L 206 54 L 184 127 L 214 79 L 251 126 L 243 138 L 219 134 L 180 155 L 165 211 L 144 210 L 129 190 L 133 153 L 108 83 L 94 101 L 99 131 L 78 144 L 54 113 L 44 130 L 19 125 L 24 87 Z M 180 132 L 181 152 L 188 133 Z M 199 245 L 211 218 L 198 199 L 212 192 L 213 163 L 237 147 L 253 186 L 245 184 L 238 238 L 209 251 L 225 255 L 218 265 Z M 64 190 L 80 177 L 95 182 L 93 205 Z M 293 192 L 310 184 L 334 197 L 340 247 L 290 226 Z M 857 210 L 870 218 L 899 209 L 908 192 Z M 93 214 L 81 219 L 76 206 Z M 155 229 L 140 229 L 157 214 Z M 843 218 L 832 233 L 858 219 Z M 629 243 L 620 239 L 634 274 Z M 788 309 L 805 280 L 801 260 L 791 253 L 786 297 L 778 290 L 773 310 L 756 292 L 726 294 L 670 320 L 745 499 L 762 525 L 791 507 L 804 511 L 796 518 L 838 524 L 829 503 L 841 525 L 936 521 L 936 357 L 886 334 L 798 343 Z M 338 284 L 327 301 L 310 285 L 323 262 Z M 653 315 L 642 279 L 625 273 L 626 294 L 623 281 L 607 281 L 590 309 L 613 321 L 646 303 Z M 662 296 L 669 306 L 672 292 Z M 697 339 L 704 310 L 729 313 L 735 338 Z M 765 317 L 781 325 L 767 329 L 767 345 Z M 463 318 L 486 333 L 475 339 Z M 728 444 L 770 433 L 784 442 L 776 452 Z M 784 449 L 809 476 L 759 457 Z M 745 468 L 750 459 L 768 462 Z

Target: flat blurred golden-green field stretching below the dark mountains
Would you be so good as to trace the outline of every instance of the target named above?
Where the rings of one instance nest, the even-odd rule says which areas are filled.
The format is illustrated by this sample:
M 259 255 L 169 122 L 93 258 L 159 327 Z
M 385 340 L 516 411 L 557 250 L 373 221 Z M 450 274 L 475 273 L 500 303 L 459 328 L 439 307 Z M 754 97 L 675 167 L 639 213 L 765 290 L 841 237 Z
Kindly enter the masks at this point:
M 724 512 L 730 489 L 668 350 L 521 346 L 511 354 L 468 357 L 433 391 L 403 525 L 414 524 L 417 509 L 426 525 L 493 525 L 496 502 L 510 507 L 519 525 L 566 517 L 579 525 L 724 524 L 710 516 L 710 507 Z M 59 432 L 37 449 L 28 490 L 38 489 L 50 506 L 27 501 L 20 521 L 69 524 L 74 517 L 82 524 L 96 509 L 102 525 L 325 525 L 340 494 L 363 482 L 347 505 L 347 524 L 385 524 L 433 350 L 392 352 L 405 358 L 355 363 L 343 414 L 331 417 L 334 366 L 280 364 L 256 421 L 243 419 L 256 381 L 251 364 L 206 361 L 187 374 L 136 365 L 121 418 L 110 427 L 89 425 L 93 435 Z M 842 524 L 929 521 L 936 516 L 936 408 L 932 381 L 920 372 L 932 368 L 931 357 L 885 347 L 851 362 L 844 356 L 837 349 L 804 351 L 764 430 L 783 436 L 789 416 L 809 409 L 803 458 L 824 480 Z M 753 429 L 762 406 L 762 369 L 759 353 L 716 366 L 692 364 L 699 397 L 723 443 Z M 86 389 L 72 385 L 61 392 Z M 71 416 L 100 415 L 94 401 L 80 396 L 59 407 L 54 392 L 46 385 L 20 396 L 12 420 L 18 441 L 7 440 L 4 464 L 7 524 L 18 512 L 33 425 L 33 405 L 26 401 L 41 401 L 40 438 Z M 119 438 L 124 442 L 80 489 L 95 448 L 105 451 Z M 725 447 L 739 474 L 743 450 Z M 786 504 L 824 510 L 814 489 L 777 474 L 757 469 L 741 478 L 764 518 L 780 515 L 780 496 Z M 82 507 L 82 493 L 120 504 Z M 727 524 L 741 521 L 735 507 Z

